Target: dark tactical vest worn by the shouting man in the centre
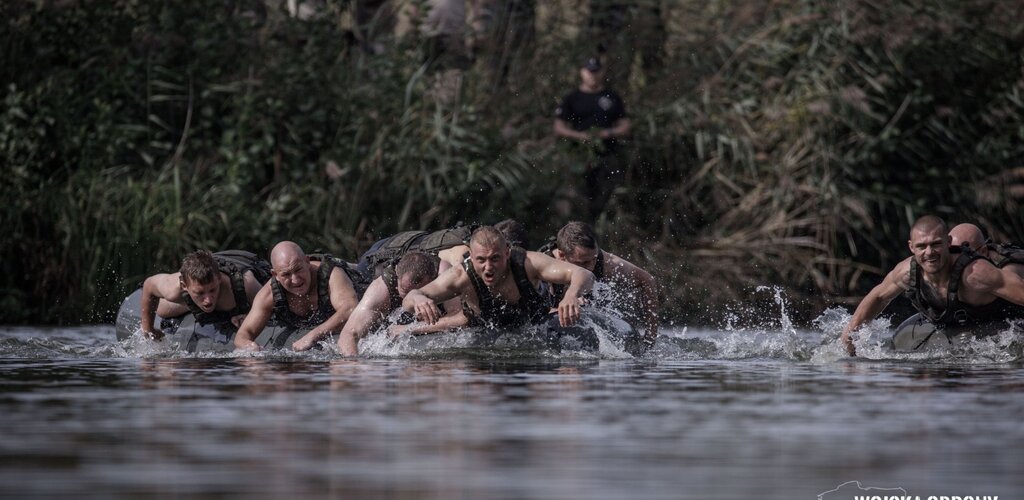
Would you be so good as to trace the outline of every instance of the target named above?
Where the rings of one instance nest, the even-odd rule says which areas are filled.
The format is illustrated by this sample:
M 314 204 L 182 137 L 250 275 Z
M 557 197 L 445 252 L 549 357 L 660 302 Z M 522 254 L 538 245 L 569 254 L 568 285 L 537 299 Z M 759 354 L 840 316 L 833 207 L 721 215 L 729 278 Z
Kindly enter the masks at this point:
M 509 256 L 509 270 L 519 291 L 519 301 L 510 304 L 490 294 L 490 290 L 473 268 L 469 253 L 463 256 L 462 267 L 469 275 L 476 297 L 479 299 L 480 312 L 476 315 L 463 300 L 463 311 L 469 318 L 469 326 L 487 326 L 492 328 L 509 328 L 525 324 L 539 324 L 547 320 L 551 302 L 534 288 L 526 275 L 526 251 L 512 247 Z

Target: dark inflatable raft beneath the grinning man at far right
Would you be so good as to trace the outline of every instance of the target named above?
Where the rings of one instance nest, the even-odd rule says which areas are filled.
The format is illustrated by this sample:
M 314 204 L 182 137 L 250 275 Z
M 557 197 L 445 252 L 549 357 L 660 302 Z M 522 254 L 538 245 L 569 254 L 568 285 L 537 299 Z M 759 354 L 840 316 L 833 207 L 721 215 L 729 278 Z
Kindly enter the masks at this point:
M 918 312 L 896 327 L 892 337 L 892 346 L 899 352 L 949 349 L 969 339 L 998 334 L 1007 327 L 1006 320 L 969 326 L 937 326 Z

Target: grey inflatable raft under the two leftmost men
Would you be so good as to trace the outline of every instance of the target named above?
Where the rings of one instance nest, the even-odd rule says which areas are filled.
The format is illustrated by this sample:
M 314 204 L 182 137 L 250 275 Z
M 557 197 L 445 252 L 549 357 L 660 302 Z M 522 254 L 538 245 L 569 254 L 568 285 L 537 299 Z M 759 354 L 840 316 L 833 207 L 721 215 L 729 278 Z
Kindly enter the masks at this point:
M 142 290 L 135 290 L 121 303 L 115 323 L 118 340 L 124 340 L 139 331 L 141 325 Z M 154 325 L 164 332 L 164 342 L 170 342 L 187 352 L 227 352 L 234 350 L 237 329 L 230 322 L 201 324 L 190 314 L 176 318 L 157 317 Z M 256 337 L 256 343 L 264 349 L 281 349 L 292 345 L 309 330 L 305 328 L 285 328 L 268 324 Z

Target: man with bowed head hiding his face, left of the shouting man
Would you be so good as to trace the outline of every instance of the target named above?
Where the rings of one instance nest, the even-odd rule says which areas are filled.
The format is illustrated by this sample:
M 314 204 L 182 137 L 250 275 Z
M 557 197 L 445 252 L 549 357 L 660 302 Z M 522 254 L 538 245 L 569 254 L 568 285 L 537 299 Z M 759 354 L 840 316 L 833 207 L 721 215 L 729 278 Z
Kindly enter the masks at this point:
M 447 262 L 423 252 L 410 252 L 397 264 L 384 269 L 384 274 L 373 281 L 362 295 L 358 305 L 338 338 L 338 349 L 342 356 L 358 355 L 359 339 L 377 328 L 388 315 L 401 307 L 401 300 L 411 290 L 423 287 L 437 278 L 437 275 L 452 267 Z M 445 314 L 433 325 L 414 327 L 407 333 L 414 335 L 439 332 L 466 326 L 468 320 L 462 315 L 458 299 L 444 304 Z

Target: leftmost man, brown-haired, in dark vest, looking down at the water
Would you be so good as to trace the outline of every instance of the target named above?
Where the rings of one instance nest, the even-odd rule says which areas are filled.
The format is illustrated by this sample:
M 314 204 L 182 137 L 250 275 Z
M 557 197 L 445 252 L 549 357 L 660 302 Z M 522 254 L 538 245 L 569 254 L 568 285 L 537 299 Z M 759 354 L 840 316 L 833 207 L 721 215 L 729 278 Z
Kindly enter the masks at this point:
M 269 279 L 269 267 L 242 250 L 185 255 L 178 273 L 154 275 L 142 283 L 142 332 L 159 340 L 164 332 L 154 325 L 156 315 L 175 318 L 186 312 L 203 325 L 230 321 L 238 327 Z

